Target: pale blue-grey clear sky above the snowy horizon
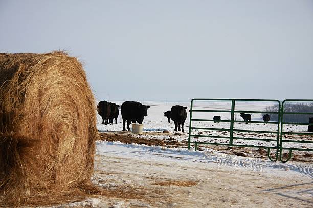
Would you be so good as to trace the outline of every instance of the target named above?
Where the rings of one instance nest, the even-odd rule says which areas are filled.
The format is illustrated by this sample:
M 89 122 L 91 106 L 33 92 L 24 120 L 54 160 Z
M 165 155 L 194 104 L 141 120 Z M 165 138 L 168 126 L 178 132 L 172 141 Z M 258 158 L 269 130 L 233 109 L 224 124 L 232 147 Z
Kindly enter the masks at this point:
M 4 1 L 0 51 L 68 50 L 98 100 L 313 98 L 313 1 Z

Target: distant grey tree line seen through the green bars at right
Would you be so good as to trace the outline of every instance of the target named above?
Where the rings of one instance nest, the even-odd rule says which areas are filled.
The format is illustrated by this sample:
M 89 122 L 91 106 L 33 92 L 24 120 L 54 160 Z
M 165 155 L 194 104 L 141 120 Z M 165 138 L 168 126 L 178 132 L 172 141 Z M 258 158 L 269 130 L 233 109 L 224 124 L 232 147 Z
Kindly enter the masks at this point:
M 265 108 L 265 111 L 269 112 L 278 112 L 278 105 L 268 106 Z M 304 103 L 285 103 L 284 112 L 297 112 L 297 113 L 308 113 L 313 112 L 313 104 L 304 104 Z M 265 113 L 262 113 L 264 116 Z M 270 114 L 271 121 L 278 121 L 278 114 Z M 284 122 L 290 123 L 309 123 L 310 117 L 313 117 L 313 114 L 284 114 Z

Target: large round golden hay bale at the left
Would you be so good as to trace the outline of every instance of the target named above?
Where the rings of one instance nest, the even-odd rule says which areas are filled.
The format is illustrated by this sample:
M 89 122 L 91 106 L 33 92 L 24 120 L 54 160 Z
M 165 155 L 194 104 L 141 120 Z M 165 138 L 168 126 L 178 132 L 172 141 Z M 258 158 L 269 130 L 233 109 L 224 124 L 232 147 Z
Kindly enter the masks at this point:
M 0 202 L 90 183 L 95 100 L 76 58 L 0 53 L 0 122 Z

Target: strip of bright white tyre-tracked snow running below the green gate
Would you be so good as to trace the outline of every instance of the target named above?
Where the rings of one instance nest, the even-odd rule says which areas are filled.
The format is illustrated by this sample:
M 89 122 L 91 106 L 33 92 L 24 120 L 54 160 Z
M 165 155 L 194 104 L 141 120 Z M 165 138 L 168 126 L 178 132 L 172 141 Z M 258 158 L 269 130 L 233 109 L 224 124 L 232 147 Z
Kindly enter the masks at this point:
M 175 163 L 213 163 L 238 169 L 266 171 L 273 175 L 277 173 L 284 176 L 301 174 L 304 177 L 313 179 L 313 164 L 273 163 L 260 158 L 226 155 L 212 149 L 208 151 L 190 151 L 187 148 L 167 148 L 140 144 L 123 144 L 121 142 L 97 142 L 97 153 L 99 155 L 106 155 L 107 153 L 116 154 L 117 156 L 131 155 L 131 157 L 136 157 L 139 160 L 153 158 L 160 161 L 174 160 Z

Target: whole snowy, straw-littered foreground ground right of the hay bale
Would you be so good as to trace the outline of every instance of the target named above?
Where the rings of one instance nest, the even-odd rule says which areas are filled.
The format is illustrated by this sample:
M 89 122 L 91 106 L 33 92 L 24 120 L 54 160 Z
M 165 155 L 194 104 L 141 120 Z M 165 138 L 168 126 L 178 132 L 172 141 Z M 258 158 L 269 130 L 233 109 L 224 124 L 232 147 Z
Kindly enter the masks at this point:
M 310 207 L 313 165 L 97 142 L 95 185 L 111 197 L 54 207 Z M 130 195 L 130 196 L 129 196 Z

